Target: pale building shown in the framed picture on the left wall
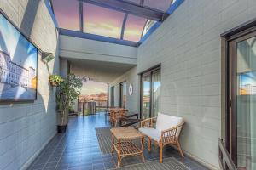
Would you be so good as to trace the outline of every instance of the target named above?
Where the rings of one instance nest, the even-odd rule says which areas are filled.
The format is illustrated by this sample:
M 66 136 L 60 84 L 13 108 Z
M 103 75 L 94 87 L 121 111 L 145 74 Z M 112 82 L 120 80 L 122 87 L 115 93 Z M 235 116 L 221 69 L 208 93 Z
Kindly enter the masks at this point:
M 11 61 L 9 54 L 0 51 L 0 82 L 16 86 L 31 87 L 31 80 L 36 76 L 34 68 L 24 68 Z

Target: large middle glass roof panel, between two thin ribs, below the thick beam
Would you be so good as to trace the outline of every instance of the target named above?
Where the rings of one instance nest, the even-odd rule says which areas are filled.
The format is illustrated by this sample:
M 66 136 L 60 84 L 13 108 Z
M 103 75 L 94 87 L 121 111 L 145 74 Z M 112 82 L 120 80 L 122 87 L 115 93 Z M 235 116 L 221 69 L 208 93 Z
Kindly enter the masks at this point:
M 109 8 L 84 3 L 84 32 L 120 38 L 125 14 Z

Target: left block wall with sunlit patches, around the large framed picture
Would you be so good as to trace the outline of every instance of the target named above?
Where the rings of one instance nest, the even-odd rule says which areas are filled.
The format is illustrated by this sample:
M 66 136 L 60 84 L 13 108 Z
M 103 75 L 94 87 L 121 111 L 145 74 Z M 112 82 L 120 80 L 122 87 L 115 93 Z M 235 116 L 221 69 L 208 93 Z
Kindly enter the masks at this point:
M 0 169 L 25 168 L 56 133 L 55 90 L 49 74 L 59 73 L 55 26 L 43 0 L 0 1 L 0 8 L 43 51 L 56 55 L 47 65 L 38 55 L 38 99 L 0 104 Z

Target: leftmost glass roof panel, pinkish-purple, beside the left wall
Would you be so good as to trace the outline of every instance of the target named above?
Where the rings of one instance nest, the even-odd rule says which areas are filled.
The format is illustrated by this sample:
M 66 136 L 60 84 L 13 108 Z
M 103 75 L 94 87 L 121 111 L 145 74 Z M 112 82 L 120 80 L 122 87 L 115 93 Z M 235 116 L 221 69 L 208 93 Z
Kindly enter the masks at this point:
M 53 0 L 56 20 L 61 28 L 79 31 L 79 1 Z

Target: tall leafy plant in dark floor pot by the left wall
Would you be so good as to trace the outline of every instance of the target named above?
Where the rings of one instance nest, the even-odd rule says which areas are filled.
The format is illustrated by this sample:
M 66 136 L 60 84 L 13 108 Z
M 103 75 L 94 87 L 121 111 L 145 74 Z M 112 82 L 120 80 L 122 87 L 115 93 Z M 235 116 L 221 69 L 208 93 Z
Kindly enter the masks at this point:
M 65 133 L 68 122 L 68 109 L 75 99 L 79 98 L 82 88 L 82 80 L 69 74 L 67 78 L 62 79 L 56 89 L 56 102 L 58 109 L 58 133 Z

